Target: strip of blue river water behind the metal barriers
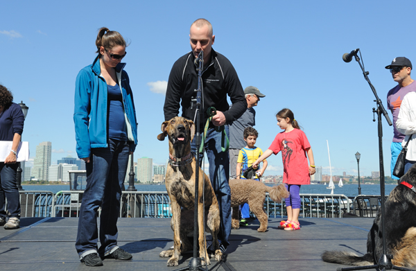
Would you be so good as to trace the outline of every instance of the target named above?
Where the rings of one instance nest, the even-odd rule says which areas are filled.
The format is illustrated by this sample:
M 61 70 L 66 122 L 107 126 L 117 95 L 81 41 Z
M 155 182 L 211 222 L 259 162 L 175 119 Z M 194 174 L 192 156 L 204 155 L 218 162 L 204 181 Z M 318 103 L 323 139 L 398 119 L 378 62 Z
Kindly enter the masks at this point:
M 274 184 L 267 184 L 273 186 Z M 125 184 L 125 188 L 128 184 Z M 385 184 L 385 195 L 388 195 L 392 189 L 396 187 L 395 184 Z M 166 192 L 166 186 L 164 184 L 135 184 L 137 191 L 161 191 Z M 58 191 L 69 191 L 69 184 L 67 185 L 23 185 L 23 189 L 26 191 L 51 191 L 57 193 Z M 327 186 L 323 184 L 311 184 L 303 185 L 300 189 L 302 194 L 330 194 L 331 189 L 327 189 Z M 354 197 L 358 195 L 358 184 L 345 184 L 343 187 L 333 189 L 334 194 L 343 194 L 347 197 Z M 362 195 L 380 195 L 379 184 L 361 184 Z

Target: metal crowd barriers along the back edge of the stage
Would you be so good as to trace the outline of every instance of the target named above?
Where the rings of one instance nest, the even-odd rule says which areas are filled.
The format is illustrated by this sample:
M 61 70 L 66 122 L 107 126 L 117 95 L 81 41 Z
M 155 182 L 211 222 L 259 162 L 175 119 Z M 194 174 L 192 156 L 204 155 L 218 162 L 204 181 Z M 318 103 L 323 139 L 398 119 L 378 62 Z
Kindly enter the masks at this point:
M 78 217 L 84 191 L 19 191 L 22 217 Z M 300 216 L 342 218 L 349 216 L 375 217 L 379 195 L 358 195 L 348 198 L 341 194 L 300 194 Z M 7 202 L 6 202 L 7 209 Z M 264 211 L 270 218 L 287 216 L 284 200 L 273 202 L 268 193 Z M 101 210 L 98 210 L 100 216 Z M 166 192 L 123 191 L 119 217 L 171 218 L 171 201 Z

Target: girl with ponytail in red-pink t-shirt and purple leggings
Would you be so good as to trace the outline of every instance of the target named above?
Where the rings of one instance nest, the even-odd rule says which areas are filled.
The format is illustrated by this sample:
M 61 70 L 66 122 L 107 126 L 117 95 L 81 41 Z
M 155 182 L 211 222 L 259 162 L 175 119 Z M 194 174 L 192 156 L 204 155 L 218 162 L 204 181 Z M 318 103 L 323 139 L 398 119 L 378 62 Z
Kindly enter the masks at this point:
M 315 173 L 315 161 L 313 161 L 311 145 L 306 138 L 306 134 L 300 130 L 293 112 L 284 108 L 276 114 L 276 119 L 277 125 L 284 132 L 277 134 L 272 145 L 259 159 L 254 161 L 252 166 L 255 168 L 261 161 L 273 153 L 277 155 L 281 151 L 284 168 L 283 182 L 290 195 L 285 200 L 288 220 L 281 221 L 279 228 L 294 231 L 300 229 L 298 220 L 301 205 L 300 186 L 302 184 L 311 184 L 311 175 Z M 309 164 L 306 154 L 309 158 Z

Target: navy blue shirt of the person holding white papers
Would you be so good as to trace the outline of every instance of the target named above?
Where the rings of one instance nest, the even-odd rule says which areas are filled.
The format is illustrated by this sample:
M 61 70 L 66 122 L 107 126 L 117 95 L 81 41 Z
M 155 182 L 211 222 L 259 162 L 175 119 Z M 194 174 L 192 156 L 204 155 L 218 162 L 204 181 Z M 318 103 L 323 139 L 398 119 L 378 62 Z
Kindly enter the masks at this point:
M 24 115 L 20 105 L 12 103 L 0 113 L 0 141 L 13 141 L 15 134 L 23 132 Z

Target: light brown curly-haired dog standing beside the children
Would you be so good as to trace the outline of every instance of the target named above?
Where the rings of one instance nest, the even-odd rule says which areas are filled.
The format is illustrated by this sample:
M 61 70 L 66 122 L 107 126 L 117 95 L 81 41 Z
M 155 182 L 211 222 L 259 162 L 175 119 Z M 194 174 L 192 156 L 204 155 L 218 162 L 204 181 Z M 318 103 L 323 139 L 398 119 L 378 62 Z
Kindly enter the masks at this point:
M 282 198 L 288 198 L 289 192 L 284 184 L 273 187 L 266 186 L 262 182 L 256 180 L 229 180 L 229 188 L 231 189 L 231 207 L 232 207 L 232 228 L 240 227 L 240 211 L 239 205 L 248 203 L 250 211 L 259 219 L 259 232 L 267 229 L 268 217 L 263 210 L 264 200 L 266 200 L 266 192 L 274 202 L 279 202 Z

